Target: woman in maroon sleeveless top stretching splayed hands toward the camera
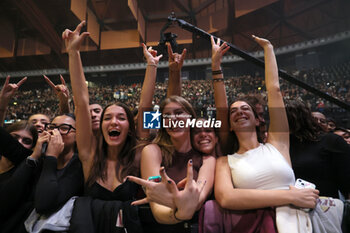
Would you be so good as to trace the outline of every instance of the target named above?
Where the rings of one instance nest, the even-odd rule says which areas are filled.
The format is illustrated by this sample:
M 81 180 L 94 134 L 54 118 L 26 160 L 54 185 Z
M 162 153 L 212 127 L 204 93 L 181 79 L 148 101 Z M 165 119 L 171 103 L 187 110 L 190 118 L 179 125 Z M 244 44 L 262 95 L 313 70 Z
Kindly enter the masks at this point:
M 191 129 L 186 124 L 180 126 L 179 122 L 195 119 L 188 101 L 180 96 L 170 96 L 162 102 L 160 110 L 167 116 L 164 121 L 173 121 L 176 127 L 162 127 L 153 142 L 142 150 L 141 177 L 148 180 L 149 177 L 162 176 L 162 182 L 157 183 L 156 188 L 145 188 L 146 199 L 157 222 L 144 222 L 144 232 L 189 232 L 198 222 L 196 211 L 211 193 L 215 157 L 193 149 Z M 145 182 L 134 177 L 131 179 L 141 184 Z M 175 184 L 178 188 L 185 187 L 184 190 L 167 188 Z M 161 196 L 157 190 L 162 190 Z

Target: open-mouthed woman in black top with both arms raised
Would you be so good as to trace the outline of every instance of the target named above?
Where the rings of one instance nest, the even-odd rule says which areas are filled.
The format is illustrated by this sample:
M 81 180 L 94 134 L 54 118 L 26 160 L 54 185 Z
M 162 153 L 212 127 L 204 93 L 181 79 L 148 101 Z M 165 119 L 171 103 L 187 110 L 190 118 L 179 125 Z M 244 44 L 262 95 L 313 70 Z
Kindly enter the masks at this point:
M 130 109 L 125 104 L 110 104 L 102 112 L 100 118 L 101 137 L 96 142 L 90 117 L 89 93 L 79 52 L 84 38 L 89 35 L 88 32 L 80 34 L 84 24 L 85 22 L 80 23 L 74 31 L 66 29 L 62 34 L 69 55 L 69 71 L 77 118 L 77 147 L 79 159 L 83 166 L 86 195 L 103 201 L 120 201 L 118 203 L 105 202 L 107 205 L 113 205 L 111 207 L 113 211 L 111 210 L 110 216 L 106 213 L 105 219 L 100 218 L 102 221 L 106 221 L 106 224 L 111 218 L 109 223 L 113 223 L 113 229 L 117 230 L 115 229 L 115 221 L 119 217 L 124 216 L 126 221 L 129 219 L 126 217 L 127 215 L 118 214 L 119 211 L 116 210 L 117 207 L 114 204 L 117 204 L 119 208 L 124 205 L 122 202 L 133 200 L 138 188 L 134 183 L 126 180 L 126 177 L 127 175 L 139 174 L 139 158 L 135 146 L 137 145 L 137 137 L 145 138 L 148 134 L 142 128 L 142 116 L 143 111 L 151 107 L 153 97 L 151 93 L 154 92 L 157 65 L 162 55 L 157 56 L 156 51 L 151 48 L 147 49 L 146 45 L 143 45 L 147 68 L 136 124 Z M 80 206 L 80 200 L 77 202 L 77 205 Z M 90 202 L 90 204 L 92 209 L 99 208 L 96 207 L 95 201 Z M 84 205 L 82 205 L 82 208 L 84 208 Z M 129 210 L 133 211 L 131 207 Z M 103 228 L 105 224 L 100 222 L 100 219 L 93 219 L 94 225 L 97 227 L 95 230 L 98 232 L 106 230 L 101 230 L 100 227 Z M 130 231 L 128 227 L 132 227 L 134 224 L 129 225 L 122 221 L 117 224 L 117 228 L 120 227 L 118 228 L 120 230 L 123 225 L 128 225 L 127 229 Z M 88 227 L 85 229 L 88 229 Z

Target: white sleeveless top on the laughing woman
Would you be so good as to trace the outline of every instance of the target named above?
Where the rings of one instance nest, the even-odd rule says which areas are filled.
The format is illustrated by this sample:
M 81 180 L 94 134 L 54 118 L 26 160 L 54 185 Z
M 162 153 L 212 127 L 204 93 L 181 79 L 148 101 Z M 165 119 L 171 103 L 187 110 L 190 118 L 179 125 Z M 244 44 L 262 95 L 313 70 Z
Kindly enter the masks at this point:
M 283 155 L 270 143 L 243 154 L 228 155 L 233 186 L 245 189 L 289 189 L 295 177 Z

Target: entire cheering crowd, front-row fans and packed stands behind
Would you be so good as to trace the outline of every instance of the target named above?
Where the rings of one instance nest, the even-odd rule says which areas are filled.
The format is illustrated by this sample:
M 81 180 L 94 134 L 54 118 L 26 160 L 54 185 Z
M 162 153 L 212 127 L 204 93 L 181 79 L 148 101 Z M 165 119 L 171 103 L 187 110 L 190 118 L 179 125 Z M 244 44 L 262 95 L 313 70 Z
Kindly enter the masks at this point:
M 23 118 L 0 127 L 2 232 L 350 230 L 350 131 L 292 98 L 298 89 L 280 84 L 268 40 L 252 36 L 264 50 L 261 77 L 225 78 L 229 47 L 211 37 L 212 85 L 182 81 L 186 49 L 170 45 L 169 82 L 156 83 L 162 55 L 143 44 L 142 85 L 88 88 L 84 24 L 62 33 L 74 105 L 63 77 L 26 92 L 48 99 L 22 110 L 44 110 L 14 111 L 28 100 L 18 95 L 26 78 L 7 77 L 0 92 L 0 120 Z M 162 127 L 149 129 L 144 113 L 155 106 L 150 122 L 162 116 Z

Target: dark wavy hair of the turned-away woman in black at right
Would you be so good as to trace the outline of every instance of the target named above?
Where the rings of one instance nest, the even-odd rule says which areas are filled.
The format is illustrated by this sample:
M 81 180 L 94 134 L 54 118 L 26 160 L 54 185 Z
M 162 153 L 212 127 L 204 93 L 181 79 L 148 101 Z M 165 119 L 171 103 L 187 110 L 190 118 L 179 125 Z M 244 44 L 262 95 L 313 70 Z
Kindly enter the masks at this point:
M 300 100 L 286 100 L 289 131 L 300 141 L 317 141 L 323 129 L 314 120 L 311 109 Z

